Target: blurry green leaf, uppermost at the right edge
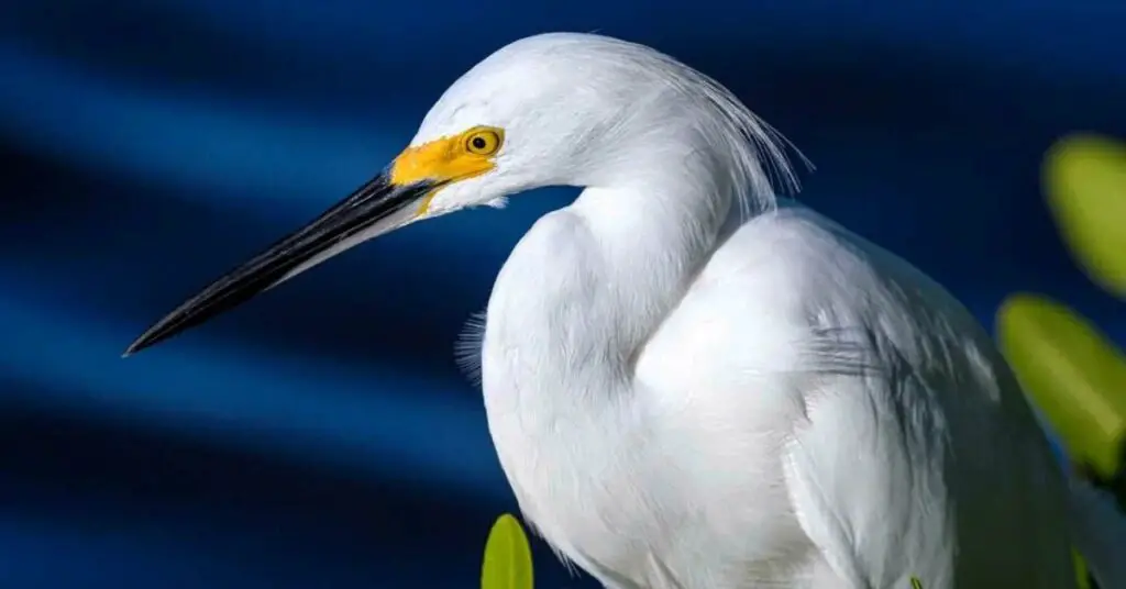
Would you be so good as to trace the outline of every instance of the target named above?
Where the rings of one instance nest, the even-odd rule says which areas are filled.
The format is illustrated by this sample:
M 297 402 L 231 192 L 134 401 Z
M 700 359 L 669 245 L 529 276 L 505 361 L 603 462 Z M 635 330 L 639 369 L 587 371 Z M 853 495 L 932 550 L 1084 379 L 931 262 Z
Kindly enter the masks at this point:
M 1080 267 L 1126 298 L 1126 145 L 1093 135 L 1060 141 L 1045 158 L 1044 188 Z

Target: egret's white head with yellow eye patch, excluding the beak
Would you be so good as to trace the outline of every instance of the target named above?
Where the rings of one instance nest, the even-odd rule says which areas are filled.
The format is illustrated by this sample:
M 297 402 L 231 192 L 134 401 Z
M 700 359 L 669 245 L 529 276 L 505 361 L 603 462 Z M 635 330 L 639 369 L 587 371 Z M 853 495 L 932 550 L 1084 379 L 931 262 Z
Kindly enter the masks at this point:
M 632 145 L 652 148 L 654 131 L 673 128 L 670 106 L 680 102 L 662 100 L 674 90 L 670 65 L 685 69 L 649 47 L 598 35 L 511 43 L 443 93 L 388 179 L 432 186 L 411 221 L 530 188 L 597 184 Z

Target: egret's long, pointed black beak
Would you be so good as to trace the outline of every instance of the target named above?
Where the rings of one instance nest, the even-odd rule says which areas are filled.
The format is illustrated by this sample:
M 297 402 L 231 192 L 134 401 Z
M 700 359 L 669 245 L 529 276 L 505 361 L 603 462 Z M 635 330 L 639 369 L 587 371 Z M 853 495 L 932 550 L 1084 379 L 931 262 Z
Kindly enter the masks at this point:
M 392 185 L 386 173 L 356 189 L 304 229 L 278 241 L 164 315 L 125 350 L 125 356 L 198 325 L 341 251 L 400 227 L 414 217 L 436 182 Z

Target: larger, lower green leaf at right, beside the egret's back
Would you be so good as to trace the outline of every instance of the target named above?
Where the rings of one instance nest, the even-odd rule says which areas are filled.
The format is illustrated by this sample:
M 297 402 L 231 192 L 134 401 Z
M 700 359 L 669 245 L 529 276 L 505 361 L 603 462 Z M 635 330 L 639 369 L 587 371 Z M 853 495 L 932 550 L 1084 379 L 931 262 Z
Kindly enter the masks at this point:
M 1037 295 L 1007 298 L 997 316 L 1001 351 L 1067 454 L 1102 476 L 1126 444 L 1126 358 L 1093 325 Z

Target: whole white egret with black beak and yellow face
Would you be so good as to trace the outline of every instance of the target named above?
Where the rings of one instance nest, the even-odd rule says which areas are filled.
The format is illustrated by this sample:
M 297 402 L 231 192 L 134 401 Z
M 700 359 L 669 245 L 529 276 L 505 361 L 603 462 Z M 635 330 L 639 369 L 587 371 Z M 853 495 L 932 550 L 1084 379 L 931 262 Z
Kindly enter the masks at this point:
M 1075 587 L 1063 471 L 990 337 L 779 202 L 783 148 L 654 50 L 517 41 L 384 172 L 126 354 L 373 237 L 578 186 L 500 270 L 481 343 L 500 464 L 560 555 L 613 589 Z

